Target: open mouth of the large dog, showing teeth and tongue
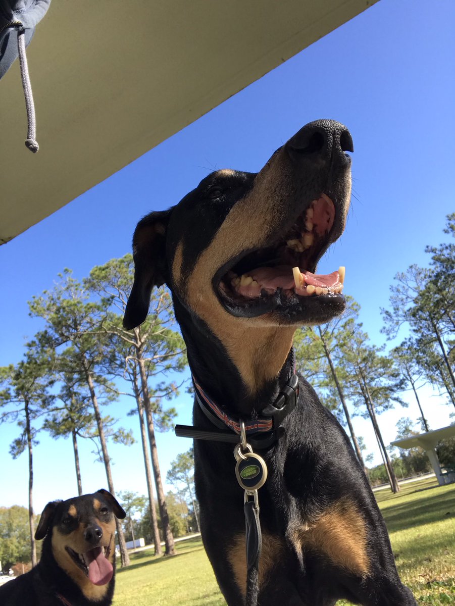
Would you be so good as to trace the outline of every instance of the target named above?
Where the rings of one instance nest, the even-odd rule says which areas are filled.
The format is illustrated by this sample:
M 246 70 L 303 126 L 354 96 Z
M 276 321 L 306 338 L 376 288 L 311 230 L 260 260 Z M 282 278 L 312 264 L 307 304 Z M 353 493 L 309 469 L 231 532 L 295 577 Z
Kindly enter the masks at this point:
M 214 277 L 221 303 L 236 316 L 259 316 L 279 307 L 307 307 L 310 299 L 341 304 L 345 268 L 328 275 L 313 271 L 330 244 L 335 207 L 322 194 L 269 247 L 224 265 Z M 305 301 L 304 301 L 305 298 Z

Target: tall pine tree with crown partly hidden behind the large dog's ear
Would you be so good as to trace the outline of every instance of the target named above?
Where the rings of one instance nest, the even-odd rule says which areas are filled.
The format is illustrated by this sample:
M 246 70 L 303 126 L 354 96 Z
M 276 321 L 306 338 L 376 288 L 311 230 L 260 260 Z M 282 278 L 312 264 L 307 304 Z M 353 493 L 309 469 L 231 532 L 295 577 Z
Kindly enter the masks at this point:
M 185 345 L 181 335 L 173 330 L 175 324 L 171 298 L 164 288 L 154 291 L 148 317 L 141 326 L 132 331 L 123 328 L 122 318 L 133 273 L 133 257 L 125 255 L 121 259 L 111 259 L 105 265 L 94 267 L 85 285 L 92 293 L 102 298 L 104 307 L 108 310 L 102 322 L 102 330 L 107 335 L 104 351 L 105 368 L 112 375 L 118 376 L 122 373 L 122 376 L 130 381 L 140 421 L 145 413 L 159 513 L 164 529 L 165 553 L 173 555 L 174 539 L 167 513 L 154 432 L 155 426 L 161 430 L 170 427 L 174 411 L 165 409 L 163 402 L 177 393 L 177 386 L 173 382 L 167 383 L 162 380 L 150 387 L 150 381 L 152 379 L 156 381 L 157 377 L 164 379 L 171 371 L 180 371 L 185 367 Z M 141 421 L 141 435 L 142 431 Z M 142 446 L 147 473 L 148 455 L 144 439 Z M 158 526 L 149 478 L 147 483 L 155 548 L 159 551 L 161 547 L 157 536 Z

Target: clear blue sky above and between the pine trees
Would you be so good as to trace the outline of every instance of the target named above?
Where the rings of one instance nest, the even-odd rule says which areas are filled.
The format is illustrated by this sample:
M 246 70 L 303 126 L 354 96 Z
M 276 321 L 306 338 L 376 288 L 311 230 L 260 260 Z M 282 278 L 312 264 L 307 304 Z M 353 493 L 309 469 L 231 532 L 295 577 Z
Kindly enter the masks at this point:
M 50 288 L 64 267 L 82 278 L 94 265 L 124 255 L 142 215 L 176 204 L 212 170 L 259 170 L 277 147 L 318 118 L 347 125 L 355 150 L 347 229 L 319 271 L 346 265 L 345 293 L 360 303 L 365 330 L 382 344 L 379 310 L 387 307 L 394 274 L 427 264 L 425 244 L 448 237 L 442 233 L 445 216 L 455 210 L 454 23 L 452 0 L 382 0 L 0 247 L 0 365 L 21 359 L 25 339 L 41 328 L 28 317 L 27 301 Z M 431 427 L 447 425 L 450 407 L 430 390 L 422 395 Z M 190 397 L 173 405 L 178 422 L 190 423 Z M 125 416 L 130 408 L 128 399 L 109 412 L 139 438 L 137 419 Z M 401 416 L 418 412 L 411 404 L 380 418 L 387 442 Z M 367 422 L 356 418 L 354 427 L 379 462 Z M 8 454 L 17 434 L 15 425 L 0 426 L 0 505 L 27 505 L 27 455 L 12 461 Z M 77 492 L 70 441 L 44 433 L 39 441 L 36 511 Z M 164 475 L 190 445 L 171 433 L 158 436 Z M 104 468 L 94 462 L 90 445 L 80 448 L 84 491 L 105 487 Z M 139 442 L 110 445 L 110 452 L 116 490 L 145 493 Z

